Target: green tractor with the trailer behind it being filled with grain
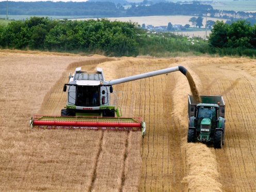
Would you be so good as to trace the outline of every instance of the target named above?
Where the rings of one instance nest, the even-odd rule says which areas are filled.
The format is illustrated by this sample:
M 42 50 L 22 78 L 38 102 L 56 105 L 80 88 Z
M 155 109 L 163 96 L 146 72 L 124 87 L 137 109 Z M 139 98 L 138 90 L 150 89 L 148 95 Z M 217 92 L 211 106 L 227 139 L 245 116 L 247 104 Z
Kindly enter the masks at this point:
M 225 102 L 222 96 L 200 96 L 201 103 L 188 95 L 187 142 L 213 142 L 221 148 L 225 142 Z

